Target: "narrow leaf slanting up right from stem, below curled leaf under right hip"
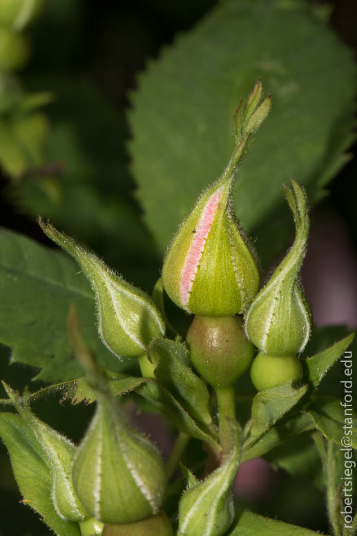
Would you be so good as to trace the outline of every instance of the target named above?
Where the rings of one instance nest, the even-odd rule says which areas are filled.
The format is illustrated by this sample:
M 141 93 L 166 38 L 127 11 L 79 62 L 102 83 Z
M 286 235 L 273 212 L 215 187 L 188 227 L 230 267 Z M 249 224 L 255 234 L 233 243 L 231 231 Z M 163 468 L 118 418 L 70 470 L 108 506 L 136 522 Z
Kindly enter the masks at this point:
M 243 447 L 242 463 L 258 458 L 258 456 L 266 454 L 269 450 L 282 443 L 282 441 L 294 437 L 297 434 L 302 434 L 302 432 L 313 430 L 314 428 L 315 423 L 313 423 L 311 416 L 306 413 L 296 412 L 292 415 L 287 415 L 275 425 L 271 426 L 267 432 L 255 439 L 255 441 L 247 439 Z

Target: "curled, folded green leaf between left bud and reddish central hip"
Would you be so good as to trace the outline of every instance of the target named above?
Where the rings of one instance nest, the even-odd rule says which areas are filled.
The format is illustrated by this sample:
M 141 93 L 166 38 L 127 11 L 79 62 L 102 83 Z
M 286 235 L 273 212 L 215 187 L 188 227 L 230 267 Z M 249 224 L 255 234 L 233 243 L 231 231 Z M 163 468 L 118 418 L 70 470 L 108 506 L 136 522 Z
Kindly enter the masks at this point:
M 182 343 L 156 338 L 148 347 L 148 356 L 156 365 L 155 378 L 175 396 L 194 419 L 212 422 L 209 391 L 190 366 L 189 352 Z

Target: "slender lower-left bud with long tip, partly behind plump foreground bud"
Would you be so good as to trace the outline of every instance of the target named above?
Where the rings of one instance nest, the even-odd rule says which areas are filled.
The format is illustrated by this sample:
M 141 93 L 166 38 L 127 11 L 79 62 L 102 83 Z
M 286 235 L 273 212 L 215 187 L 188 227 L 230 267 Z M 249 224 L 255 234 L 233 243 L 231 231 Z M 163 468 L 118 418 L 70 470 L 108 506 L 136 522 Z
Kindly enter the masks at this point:
M 68 521 L 83 521 L 88 514 L 75 493 L 71 474 L 75 446 L 33 414 L 26 399 L 20 399 L 8 385 L 4 385 L 17 411 L 30 426 L 46 453 L 52 473 L 51 499 L 57 514 Z

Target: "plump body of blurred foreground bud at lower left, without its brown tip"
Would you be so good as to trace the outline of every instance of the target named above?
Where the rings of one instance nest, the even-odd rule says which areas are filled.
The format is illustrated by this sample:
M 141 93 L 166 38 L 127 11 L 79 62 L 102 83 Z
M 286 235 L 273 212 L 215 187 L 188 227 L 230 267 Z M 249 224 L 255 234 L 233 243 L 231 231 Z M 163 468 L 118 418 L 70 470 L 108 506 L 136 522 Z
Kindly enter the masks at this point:
M 124 421 L 117 401 L 99 394 L 97 410 L 73 463 L 84 507 L 107 524 L 133 523 L 158 512 L 164 465 L 157 448 Z

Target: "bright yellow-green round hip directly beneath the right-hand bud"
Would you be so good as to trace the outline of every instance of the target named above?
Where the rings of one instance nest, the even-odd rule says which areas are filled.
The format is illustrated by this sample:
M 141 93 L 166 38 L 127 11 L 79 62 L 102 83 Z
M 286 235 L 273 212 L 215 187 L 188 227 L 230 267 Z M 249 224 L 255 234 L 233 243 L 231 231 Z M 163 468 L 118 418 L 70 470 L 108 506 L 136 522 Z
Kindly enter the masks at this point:
M 251 365 L 251 381 L 256 390 L 279 387 L 287 381 L 297 386 L 302 381 L 302 365 L 297 356 L 258 354 Z

